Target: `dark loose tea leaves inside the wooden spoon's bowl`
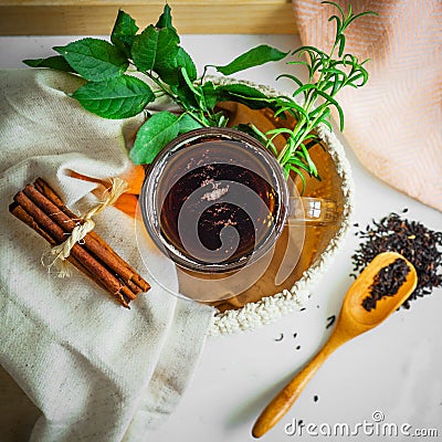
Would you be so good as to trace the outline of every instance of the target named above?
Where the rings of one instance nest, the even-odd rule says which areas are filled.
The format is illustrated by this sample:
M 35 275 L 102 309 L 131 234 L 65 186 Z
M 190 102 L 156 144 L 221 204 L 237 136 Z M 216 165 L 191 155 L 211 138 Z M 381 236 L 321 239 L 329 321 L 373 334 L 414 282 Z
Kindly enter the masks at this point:
M 367 312 L 371 312 L 383 296 L 394 296 L 409 273 L 410 267 L 400 257 L 382 267 L 375 276 L 373 283 L 369 287 L 370 294 L 362 301 L 362 307 Z

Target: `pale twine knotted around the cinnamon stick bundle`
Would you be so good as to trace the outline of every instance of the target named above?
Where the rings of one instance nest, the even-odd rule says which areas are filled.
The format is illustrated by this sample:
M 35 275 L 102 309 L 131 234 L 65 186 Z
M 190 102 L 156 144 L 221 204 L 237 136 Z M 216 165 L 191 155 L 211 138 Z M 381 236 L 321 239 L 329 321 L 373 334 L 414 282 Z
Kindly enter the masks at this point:
M 51 267 L 55 264 L 60 264 L 60 270 L 59 270 L 59 277 L 69 277 L 71 276 L 71 271 L 70 267 L 66 265 L 66 259 L 71 254 L 72 248 L 78 242 L 81 243 L 86 234 L 94 230 L 95 228 L 95 221 L 92 219 L 92 217 L 98 214 L 103 210 L 105 210 L 107 207 L 115 204 L 117 199 L 127 190 L 128 185 L 126 181 L 124 181 L 120 178 L 110 178 L 110 183 L 112 187 L 106 189 L 104 192 L 105 198 L 99 201 L 95 207 L 93 207 L 91 210 L 88 210 L 82 219 L 82 223 L 78 223 L 71 232 L 71 234 L 67 236 L 66 241 L 62 242 L 59 245 L 55 245 L 51 249 L 50 254 L 52 256 L 55 256 L 54 260 L 46 265 L 48 271 L 51 271 Z M 43 265 L 43 257 L 42 256 L 42 263 Z

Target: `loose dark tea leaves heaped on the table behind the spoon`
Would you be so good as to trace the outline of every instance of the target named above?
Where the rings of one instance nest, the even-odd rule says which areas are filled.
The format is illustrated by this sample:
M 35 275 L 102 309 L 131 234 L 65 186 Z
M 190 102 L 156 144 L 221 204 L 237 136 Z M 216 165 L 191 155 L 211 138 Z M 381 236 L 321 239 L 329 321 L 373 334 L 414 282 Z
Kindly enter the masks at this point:
M 410 301 L 442 286 L 442 232 L 390 213 L 356 234 L 361 243 L 351 256 L 354 272 L 361 272 L 381 252 L 398 252 L 414 265 L 418 285 L 402 307 L 410 308 Z

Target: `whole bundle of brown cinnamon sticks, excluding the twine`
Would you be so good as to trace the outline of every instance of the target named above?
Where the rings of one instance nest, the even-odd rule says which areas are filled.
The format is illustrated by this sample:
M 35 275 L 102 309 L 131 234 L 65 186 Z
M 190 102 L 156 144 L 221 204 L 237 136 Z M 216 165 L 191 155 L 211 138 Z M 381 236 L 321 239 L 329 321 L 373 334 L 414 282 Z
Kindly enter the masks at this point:
M 66 234 L 82 222 L 42 178 L 18 192 L 9 211 L 51 245 L 64 242 Z M 130 301 L 150 288 L 150 285 L 95 232 L 87 233 L 81 244 L 75 243 L 67 261 L 127 308 Z

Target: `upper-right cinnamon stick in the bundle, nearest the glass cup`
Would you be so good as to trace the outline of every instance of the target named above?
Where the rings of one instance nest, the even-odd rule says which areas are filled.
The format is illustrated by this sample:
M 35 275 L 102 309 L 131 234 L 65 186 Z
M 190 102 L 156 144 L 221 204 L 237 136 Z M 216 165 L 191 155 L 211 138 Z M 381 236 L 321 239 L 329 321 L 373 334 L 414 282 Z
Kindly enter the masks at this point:
M 66 232 L 71 233 L 78 222 L 78 217 L 75 215 L 55 191 L 42 179 L 38 178 L 34 183 L 35 188 L 27 186 L 24 189 L 25 194 L 32 199 L 35 204 L 40 207 Z M 40 196 L 36 194 L 40 192 Z M 80 222 L 82 222 L 80 220 Z M 150 285 L 138 275 L 138 273 L 126 263 L 97 233 L 90 232 L 84 238 L 84 245 L 94 253 L 101 261 L 103 261 L 109 269 L 120 275 L 127 285 L 137 293 L 147 292 Z M 137 288 L 138 286 L 138 288 Z

